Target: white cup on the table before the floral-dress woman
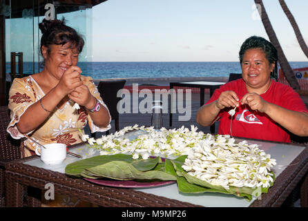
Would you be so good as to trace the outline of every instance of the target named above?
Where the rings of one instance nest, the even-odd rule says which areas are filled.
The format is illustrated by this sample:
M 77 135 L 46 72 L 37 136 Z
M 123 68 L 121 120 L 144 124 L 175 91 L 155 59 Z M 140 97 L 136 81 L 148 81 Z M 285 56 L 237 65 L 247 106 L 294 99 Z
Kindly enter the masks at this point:
M 35 153 L 48 165 L 61 164 L 66 158 L 66 144 L 45 144 L 46 148 L 37 147 Z M 40 150 L 40 152 L 39 152 Z

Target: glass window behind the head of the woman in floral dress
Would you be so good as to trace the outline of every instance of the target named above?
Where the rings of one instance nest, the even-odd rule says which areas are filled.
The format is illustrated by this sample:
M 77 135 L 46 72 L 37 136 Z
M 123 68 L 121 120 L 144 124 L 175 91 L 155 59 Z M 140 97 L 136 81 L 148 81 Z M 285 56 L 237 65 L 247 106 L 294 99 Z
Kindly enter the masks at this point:
M 54 1 L 19 1 L 10 0 L 10 13 L 6 17 L 6 72 L 11 73 L 11 52 L 15 56 L 15 72 L 19 73 L 18 60 L 22 52 L 22 74 L 38 73 L 42 70 L 39 23 L 45 17 L 54 16 L 66 20 L 66 25 L 75 28 L 84 37 L 84 49 L 79 55 L 79 63 L 83 75 L 92 76 L 92 8 L 90 5 L 52 4 Z M 48 4 L 48 7 L 46 6 Z M 46 7 L 46 8 L 45 8 Z M 51 13 L 54 12 L 54 13 Z M 54 15 L 52 15 L 54 14 Z M 12 59 L 13 59 L 12 57 Z M 19 77 L 17 75 L 17 77 Z

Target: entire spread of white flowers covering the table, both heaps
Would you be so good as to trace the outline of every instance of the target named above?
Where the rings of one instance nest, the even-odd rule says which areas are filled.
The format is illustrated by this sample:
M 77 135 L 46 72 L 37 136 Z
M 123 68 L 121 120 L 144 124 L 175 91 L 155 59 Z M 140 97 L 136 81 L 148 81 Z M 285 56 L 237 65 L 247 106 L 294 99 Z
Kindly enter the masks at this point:
M 146 131 L 134 140 L 125 134 L 128 131 Z M 187 155 L 182 168 L 189 175 L 198 177 L 212 185 L 236 187 L 268 187 L 273 182 L 271 167 L 276 160 L 258 148 L 257 144 L 246 141 L 235 143 L 229 135 L 211 135 L 197 132 L 198 128 L 169 129 L 156 131 L 153 127 L 126 126 L 111 135 L 95 140 L 82 135 L 91 147 L 99 148 L 100 155 L 126 153 L 144 160 L 150 155 L 175 157 Z

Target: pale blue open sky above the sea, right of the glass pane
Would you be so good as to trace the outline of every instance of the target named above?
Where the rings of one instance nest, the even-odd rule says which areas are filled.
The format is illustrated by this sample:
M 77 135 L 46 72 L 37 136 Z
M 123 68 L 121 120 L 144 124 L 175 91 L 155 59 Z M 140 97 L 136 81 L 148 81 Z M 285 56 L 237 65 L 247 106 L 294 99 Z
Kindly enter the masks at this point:
M 307 0 L 285 0 L 308 44 Z M 278 0 L 263 0 L 289 61 L 307 61 Z M 92 61 L 238 61 L 268 39 L 253 0 L 108 0 L 94 6 Z

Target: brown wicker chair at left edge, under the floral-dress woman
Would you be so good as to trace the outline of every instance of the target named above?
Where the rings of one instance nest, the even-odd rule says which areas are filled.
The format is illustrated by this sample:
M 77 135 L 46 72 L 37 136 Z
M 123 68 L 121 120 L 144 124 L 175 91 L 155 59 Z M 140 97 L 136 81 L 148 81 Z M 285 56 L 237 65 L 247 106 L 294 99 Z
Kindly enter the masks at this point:
M 10 160 L 21 157 L 20 141 L 14 140 L 6 131 L 10 122 L 8 106 L 0 106 L 0 206 L 5 206 L 5 165 Z

